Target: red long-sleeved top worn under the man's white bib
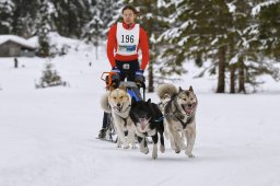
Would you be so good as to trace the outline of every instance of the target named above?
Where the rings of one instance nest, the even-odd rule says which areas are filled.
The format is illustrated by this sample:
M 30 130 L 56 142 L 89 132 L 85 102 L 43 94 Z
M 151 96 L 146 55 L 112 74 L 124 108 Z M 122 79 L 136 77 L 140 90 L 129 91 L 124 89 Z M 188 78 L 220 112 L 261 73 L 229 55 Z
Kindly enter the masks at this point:
M 136 26 L 136 23 L 131 25 L 127 25 L 122 23 L 122 27 L 125 30 L 133 30 Z M 116 61 L 130 61 L 130 60 L 137 60 L 138 59 L 138 53 L 132 54 L 132 55 L 120 55 L 118 54 L 118 39 L 117 39 L 117 24 L 114 24 L 108 33 L 108 39 L 107 39 L 107 57 L 110 62 L 112 67 L 116 67 Z M 142 62 L 140 66 L 141 70 L 144 70 L 148 62 L 149 62 L 149 43 L 148 43 L 148 36 L 145 31 L 140 27 L 139 31 L 139 43 L 137 45 L 137 51 L 141 49 L 142 50 Z

